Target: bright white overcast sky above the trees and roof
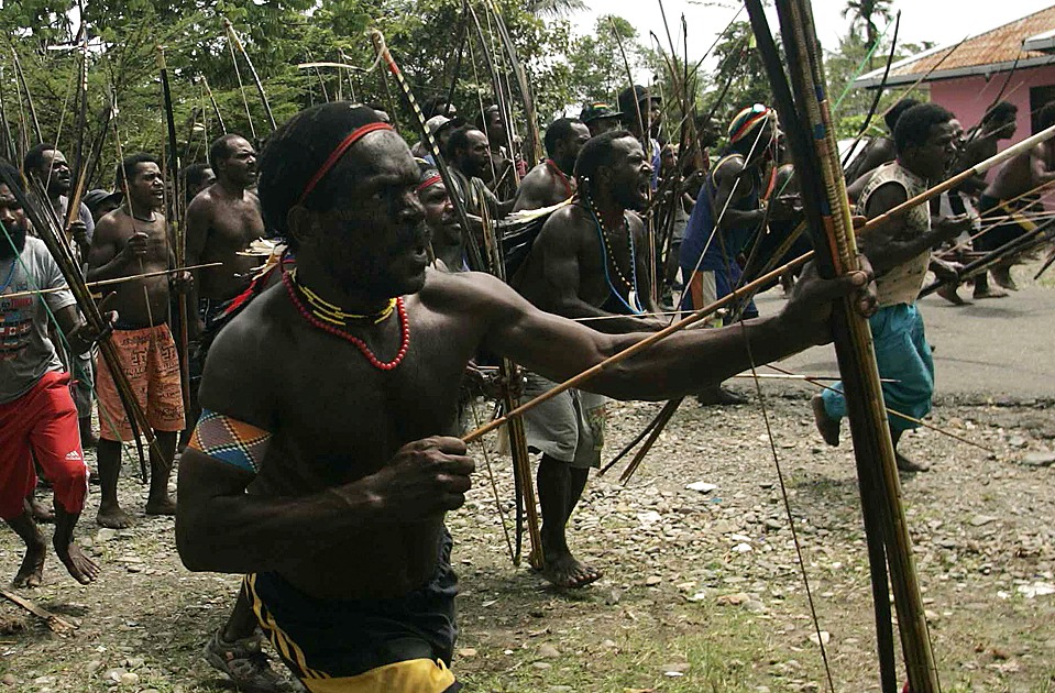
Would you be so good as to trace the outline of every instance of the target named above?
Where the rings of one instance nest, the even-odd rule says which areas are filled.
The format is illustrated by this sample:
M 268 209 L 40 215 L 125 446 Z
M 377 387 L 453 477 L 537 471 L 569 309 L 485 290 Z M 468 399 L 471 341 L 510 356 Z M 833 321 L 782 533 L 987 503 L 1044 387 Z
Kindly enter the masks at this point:
M 578 33 L 593 31 L 600 14 L 618 14 L 628 20 L 638 30 L 638 36 L 649 42 L 649 31 L 661 41 L 667 41 L 658 0 L 586 0 L 590 11 L 579 12 L 571 18 Z M 1053 0 L 1000 0 L 999 2 L 964 2 L 964 0 L 894 0 L 893 10 L 901 10 L 900 42 L 921 43 L 933 41 L 937 44 L 958 42 L 967 35 L 988 31 L 1001 24 L 1025 16 L 1053 4 Z M 689 25 L 689 53 L 700 58 L 711 46 L 718 33 L 725 29 L 740 6 L 729 0 L 663 0 L 667 19 L 674 33 L 675 45 L 681 15 L 685 15 Z M 838 37 L 846 33 L 848 20 L 842 11 L 846 0 L 814 0 L 813 15 L 817 24 L 817 35 L 825 48 L 838 46 Z M 985 9 L 985 11 L 977 11 Z M 747 19 L 747 11 L 740 14 Z M 879 30 L 884 23 L 880 19 Z M 777 25 L 776 15 L 770 24 Z M 1055 26 L 1052 26 L 1055 29 Z

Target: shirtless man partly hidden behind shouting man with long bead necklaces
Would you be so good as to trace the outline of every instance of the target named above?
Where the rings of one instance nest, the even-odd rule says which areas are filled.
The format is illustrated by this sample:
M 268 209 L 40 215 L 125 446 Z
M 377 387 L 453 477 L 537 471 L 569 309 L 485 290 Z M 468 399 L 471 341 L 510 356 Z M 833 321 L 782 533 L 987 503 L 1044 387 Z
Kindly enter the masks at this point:
M 541 209 L 563 202 L 575 194 L 575 157 L 590 139 L 590 130 L 574 118 L 559 118 L 542 139 L 548 158 L 520 182 L 513 211 Z

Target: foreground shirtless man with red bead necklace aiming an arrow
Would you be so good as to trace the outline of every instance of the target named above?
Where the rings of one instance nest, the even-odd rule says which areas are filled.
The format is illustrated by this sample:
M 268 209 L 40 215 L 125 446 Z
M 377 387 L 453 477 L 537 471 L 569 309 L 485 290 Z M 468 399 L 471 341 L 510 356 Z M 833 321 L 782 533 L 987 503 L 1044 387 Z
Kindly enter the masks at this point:
M 268 141 L 261 200 L 297 274 L 209 354 L 176 540 L 190 570 L 246 575 L 309 690 L 440 693 L 458 689 L 443 520 L 474 469 L 450 437 L 466 363 L 486 348 L 559 381 L 642 336 L 542 314 L 491 276 L 427 271 L 418 167 L 376 123 L 370 109 L 327 103 Z M 755 356 L 828 341 L 828 301 L 865 280 L 801 283 L 781 316 L 746 326 Z M 327 306 L 342 324 L 318 317 Z M 739 328 L 689 330 L 590 386 L 662 399 L 747 366 Z

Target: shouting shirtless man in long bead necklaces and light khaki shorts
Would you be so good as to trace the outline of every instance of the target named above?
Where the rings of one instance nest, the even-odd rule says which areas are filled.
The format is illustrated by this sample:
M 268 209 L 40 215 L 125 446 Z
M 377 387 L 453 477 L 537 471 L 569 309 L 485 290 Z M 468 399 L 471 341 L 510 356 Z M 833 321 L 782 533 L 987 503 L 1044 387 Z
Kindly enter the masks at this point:
M 652 167 L 641 144 L 626 130 L 597 135 L 575 163 L 580 196 L 547 220 L 525 263 L 517 289 L 538 308 L 590 322 L 602 332 L 660 329 L 639 314 L 656 311 L 646 254 L 645 224 Z M 622 316 L 622 317 L 620 317 Z M 528 374 L 525 398 L 553 387 Z M 542 509 L 542 576 L 558 587 L 581 587 L 601 571 L 572 556 L 567 525 L 591 468 L 601 466 L 605 399 L 563 393 L 524 417 L 528 444 L 542 453 L 538 468 Z

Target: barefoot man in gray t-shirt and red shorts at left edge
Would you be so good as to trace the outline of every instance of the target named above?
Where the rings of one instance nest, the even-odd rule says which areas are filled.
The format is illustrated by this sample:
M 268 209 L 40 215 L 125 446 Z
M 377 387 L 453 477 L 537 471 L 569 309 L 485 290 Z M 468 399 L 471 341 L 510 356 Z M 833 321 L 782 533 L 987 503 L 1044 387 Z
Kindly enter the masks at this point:
M 0 160 L 4 178 L 19 180 Z M 29 238 L 29 222 L 18 198 L 0 183 L 0 517 L 25 543 L 15 587 L 37 587 L 44 580 L 47 542 L 25 498 L 36 487 L 34 459 L 52 482 L 55 535 L 52 546 L 69 574 L 92 582 L 99 568 L 74 542 L 74 528 L 88 495 L 88 465 L 77 431 L 77 409 L 69 375 L 48 338 L 51 311 L 66 341 L 89 351 L 98 336 L 84 324 L 73 294 L 40 239 Z M 7 298 L 32 289 L 61 289 Z

